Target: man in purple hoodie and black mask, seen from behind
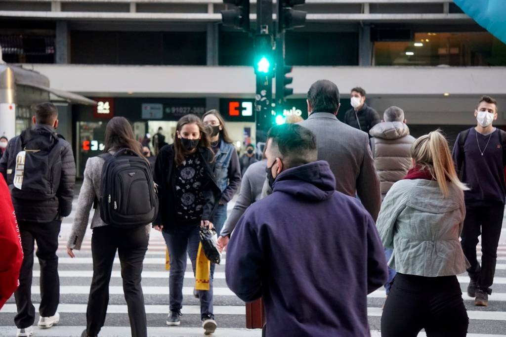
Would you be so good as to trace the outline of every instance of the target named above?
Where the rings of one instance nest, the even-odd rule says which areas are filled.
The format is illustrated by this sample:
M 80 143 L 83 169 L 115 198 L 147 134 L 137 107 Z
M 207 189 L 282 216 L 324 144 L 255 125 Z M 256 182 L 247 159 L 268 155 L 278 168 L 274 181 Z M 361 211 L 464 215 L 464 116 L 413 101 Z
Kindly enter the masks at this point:
M 263 297 L 266 336 L 368 336 L 367 294 L 387 280 L 374 221 L 335 191 L 308 129 L 273 127 L 266 156 L 273 193 L 239 220 L 227 285 L 245 302 Z

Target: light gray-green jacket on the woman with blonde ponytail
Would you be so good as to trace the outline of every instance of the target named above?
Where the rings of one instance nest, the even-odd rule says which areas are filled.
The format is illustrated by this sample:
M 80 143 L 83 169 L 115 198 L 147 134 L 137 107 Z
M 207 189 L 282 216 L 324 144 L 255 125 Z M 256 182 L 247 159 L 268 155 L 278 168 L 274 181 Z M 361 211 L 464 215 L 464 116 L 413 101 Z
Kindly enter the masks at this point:
M 466 217 L 464 193 L 448 183 L 443 197 L 436 181 L 400 180 L 383 200 L 376 226 L 389 266 L 397 272 L 426 277 L 466 272 L 469 262 L 458 240 Z

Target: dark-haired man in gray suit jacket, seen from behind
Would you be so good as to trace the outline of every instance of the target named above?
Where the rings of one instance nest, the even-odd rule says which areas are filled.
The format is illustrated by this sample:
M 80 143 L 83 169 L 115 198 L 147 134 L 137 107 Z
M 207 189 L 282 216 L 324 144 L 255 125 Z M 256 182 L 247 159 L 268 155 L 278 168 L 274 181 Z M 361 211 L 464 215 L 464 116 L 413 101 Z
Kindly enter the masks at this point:
M 381 205 L 379 178 L 368 135 L 341 122 L 336 114 L 339 89 L 329 80 L 318 80 L 308 92 L 309 118 L 299 124 L 316 135 L 318 160 L 326 160 L 335 176 L 335 190 L 358 195 L 376 220 Z

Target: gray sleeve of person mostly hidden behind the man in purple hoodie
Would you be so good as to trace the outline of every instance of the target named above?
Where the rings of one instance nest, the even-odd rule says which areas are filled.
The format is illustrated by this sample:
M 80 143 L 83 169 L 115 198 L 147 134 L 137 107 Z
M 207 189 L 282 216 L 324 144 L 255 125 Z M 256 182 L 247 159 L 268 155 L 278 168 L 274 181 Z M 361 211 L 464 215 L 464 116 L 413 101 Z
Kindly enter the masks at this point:
M 241 181 L 241 189 L 239 190 L 239 197 L 235 202 L 232 213 L 230 213 L 225 226 L 223 226 L 220 233 L 221 236 L 230 236 L 235 225 L 246 211 L 246 208 L 262 198 L 262 187 L 267 180 L 265 174 L 266 164 L 266 159 L 257 161 L 249 165 L 246 172 L 244 172 Z

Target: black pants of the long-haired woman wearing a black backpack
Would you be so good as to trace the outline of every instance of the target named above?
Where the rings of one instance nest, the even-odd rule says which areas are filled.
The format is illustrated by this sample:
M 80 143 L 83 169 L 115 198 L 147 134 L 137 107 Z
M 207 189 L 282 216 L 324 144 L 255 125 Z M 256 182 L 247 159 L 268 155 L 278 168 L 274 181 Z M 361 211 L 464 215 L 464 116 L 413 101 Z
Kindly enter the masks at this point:
M 146 337 L 146 311 L 141 287 L 142 262 L 148 249 L 145 226 L 126 230 L 111 226 L 93 229 L 93 280 L 86 313 L 87 333 L 89 336 L 96 336 L 104 326 L 109 304 L 109 281 L 116 249 L 121 264 L 123 292 L 132 336 Z

